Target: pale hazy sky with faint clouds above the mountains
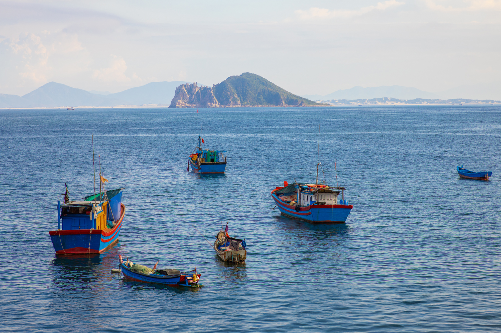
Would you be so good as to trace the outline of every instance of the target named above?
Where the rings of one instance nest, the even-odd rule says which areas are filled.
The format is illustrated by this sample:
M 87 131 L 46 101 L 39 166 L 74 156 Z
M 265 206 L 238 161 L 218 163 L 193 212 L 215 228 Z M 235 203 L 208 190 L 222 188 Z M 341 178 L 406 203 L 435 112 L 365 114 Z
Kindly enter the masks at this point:
M 252 72 L 295 94 L 499 81 L 501 0 L 0 0 L 0 93 Z

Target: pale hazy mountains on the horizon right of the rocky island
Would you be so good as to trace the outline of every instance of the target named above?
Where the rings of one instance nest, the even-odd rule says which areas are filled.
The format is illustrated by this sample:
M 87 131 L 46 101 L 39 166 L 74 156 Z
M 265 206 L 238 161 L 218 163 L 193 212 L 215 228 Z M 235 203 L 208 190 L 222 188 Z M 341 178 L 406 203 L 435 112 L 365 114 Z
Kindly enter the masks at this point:
M 453 98 L 469 98 L 469 99 L 501 99 L 501 81 L 479 84 L 460 85 L 455 88 L 439 91 L 428 92 L 416 89 L 414 87 L 406 87 L 401 85 L 382 85 L 376 87 L 361 87 L 355 86 L 350 89 L 342 89 L 334 91 L 328 95 L 301 95 L 302 97 L 312 100 L 332 100 L 332 99 L 372 99 L 391 97 L 397 99 L 453 99 Z

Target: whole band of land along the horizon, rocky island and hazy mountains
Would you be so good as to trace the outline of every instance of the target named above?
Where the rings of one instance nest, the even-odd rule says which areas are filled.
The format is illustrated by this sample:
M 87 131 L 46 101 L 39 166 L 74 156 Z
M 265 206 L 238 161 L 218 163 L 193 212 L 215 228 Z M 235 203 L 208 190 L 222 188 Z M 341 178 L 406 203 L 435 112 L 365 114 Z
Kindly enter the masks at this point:
M 461 85 L 431 93 L 399 85 L 356 86 L 337 90 L 328 95 L 295 95 L 266 78 L 252 74 L 230 76 L 212 87 L 186 81 L 151 82 L 125 91 L 86 91 L 57 82 L 49 82 L 24 96 L 0 93 L 0 108 L 117 106 L 117 105 L 188 105 L 249 106 L 249 105 L 318 105 L 312 100 L 324 100 L 331 105 L 398 103 L 497 103 L 501 100 L 501 81 Z M 181 85 L 183 87 L 181 87 Z M 183 97 L 181 90 L 186 92 Z M 178 91 L 179 90 L 179 91 Z M 182 92 L 182 93 L 184 93 Z M 198 94 L 200 94 L 198 96 Z M 176 96 L 174 98 L 174 96 Z M 385 101 L 384 98 L 387 97 Z M 467 98 L 467 99 L 465 99 Z M 404 102 L 405 101 L 405 102 Z M 173 102 L 173 104 L 172 104 Z M 195 107 L 195 106 L 193 106 Z M 200 107 L 200 106 L 196 106 Z

